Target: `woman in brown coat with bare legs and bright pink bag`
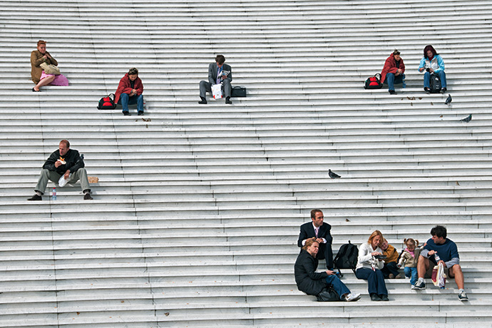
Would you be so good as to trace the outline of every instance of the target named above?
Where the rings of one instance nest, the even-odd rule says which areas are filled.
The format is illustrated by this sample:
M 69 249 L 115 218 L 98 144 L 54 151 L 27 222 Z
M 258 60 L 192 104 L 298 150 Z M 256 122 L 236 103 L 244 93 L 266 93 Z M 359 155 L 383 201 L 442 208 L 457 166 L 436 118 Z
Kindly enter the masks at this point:
M 39 88 L 48 84 L 51 86 L 68 86 L 68 80 L 65 76 L 44 73 L 40 66 L 41 63 L 58 66 L 58 61 L 46 51 L 46 42 L 43 40 L 38 41 L 38 50 L 31 52 L 31 79 L 36 83 L 33 92 L 40 92 Z

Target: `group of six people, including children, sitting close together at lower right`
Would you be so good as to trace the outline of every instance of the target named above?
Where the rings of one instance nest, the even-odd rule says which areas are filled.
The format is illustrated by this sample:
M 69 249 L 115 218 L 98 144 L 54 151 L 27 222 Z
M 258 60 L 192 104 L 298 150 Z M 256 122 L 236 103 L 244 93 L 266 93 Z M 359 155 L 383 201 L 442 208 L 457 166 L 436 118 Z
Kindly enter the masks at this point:
M 319 295 L 331 287 L 340 300 L 357 301 L 361 295 L 350 292 L 334 270 L 331 225 L 324 222 L 321 210 L 312 210 L 311 220 L 301 225 L 297 240 L 297 245 L 302 247 L 294 264 L 297 288 L 320 299 Z M 446 275 L 456 281 L 458 299 L 468 300 L 456 244 L 447 238 L 446 227 L 442 225 L 433 227 L 431 236 L 422 248 L 418 248 L 418 242 L 413 239 L 404 240 L 406 248 L 401 255 L 388 244 L 379 230 L 372 232 L 367 242 L 359 246 L 355 276 L 367 280 L 371 301 L 389 300 L 384 279 L 389 275 L 399 275 L 399 267 L 404 266 L 404 275 L 411 278 L 411 289 L 425 289 L 424 277 L 430 277 L 434 265 L 439 263 L 446 268 Z M 327 270 L 317 272 L 318 261 L 323 259 Z

